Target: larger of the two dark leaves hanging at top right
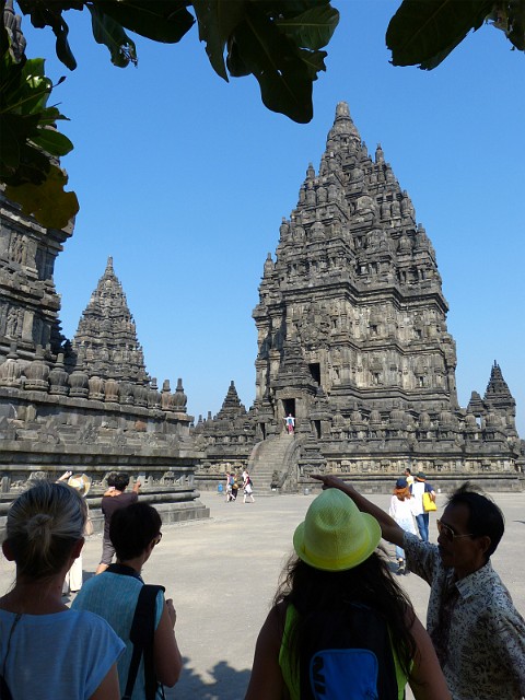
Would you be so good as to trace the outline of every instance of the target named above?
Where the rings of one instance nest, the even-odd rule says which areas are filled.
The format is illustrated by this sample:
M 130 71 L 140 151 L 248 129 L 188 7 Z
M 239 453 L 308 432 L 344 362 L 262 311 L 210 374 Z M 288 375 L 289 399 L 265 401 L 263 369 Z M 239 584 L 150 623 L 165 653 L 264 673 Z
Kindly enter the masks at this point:
M 492 0 L 404 0 L 386 32 L 392 62 L 435 68 L 470 30 L 481 26 L 492 4 Z

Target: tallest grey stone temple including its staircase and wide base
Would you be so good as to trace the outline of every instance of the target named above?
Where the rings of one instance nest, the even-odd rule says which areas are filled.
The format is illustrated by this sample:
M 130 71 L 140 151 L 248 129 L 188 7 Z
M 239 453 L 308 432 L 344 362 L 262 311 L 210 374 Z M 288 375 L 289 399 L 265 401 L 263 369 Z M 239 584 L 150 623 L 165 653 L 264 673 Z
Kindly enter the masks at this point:
M 435 252 L 383 149 L 369 155 L 346 103 L 279 233 L 253 313 L 254 405 L 234 415 L 226 397 L 215 418 L 199 420 L 206 460 L 197 477 L 248 464 L 259 491 L 295 490 L 318 470 L 381 489 L 408 466 L 444 485 L 520 488 L 523 444 L 501 369 L 494 363 L 483 399 L 458 405 Z M 284 432 L 290 412 L 293 436 Z

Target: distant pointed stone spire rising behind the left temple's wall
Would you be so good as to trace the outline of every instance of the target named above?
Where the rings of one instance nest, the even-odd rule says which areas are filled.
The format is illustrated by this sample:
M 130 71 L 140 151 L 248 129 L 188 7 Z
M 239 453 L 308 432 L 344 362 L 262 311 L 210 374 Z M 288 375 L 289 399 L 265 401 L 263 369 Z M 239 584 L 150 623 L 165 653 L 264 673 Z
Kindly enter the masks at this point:
M 103 380 L 142 384 L 150 378 L 112 257 L 82 314 L 72 346 L 77 361 Z

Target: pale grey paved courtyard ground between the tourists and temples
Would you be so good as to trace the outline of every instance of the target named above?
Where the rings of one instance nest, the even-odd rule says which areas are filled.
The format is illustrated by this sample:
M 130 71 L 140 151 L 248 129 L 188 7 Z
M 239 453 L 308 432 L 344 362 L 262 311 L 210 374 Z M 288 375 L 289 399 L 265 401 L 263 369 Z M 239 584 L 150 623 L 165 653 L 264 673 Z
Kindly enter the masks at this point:
M 312 495 L 255 497 L 255 503 L 243 504 L 242 499 L 225 503 L 215 493 L 203 493 L 201 500 L 209 505 L 211 518 L 165 527 L 162 544 L 144 568 L 145 581 L 165 585 L 177 609 L 176 634 L 185 670 L 167 692 L 170 700 L 244 697 L 257 633 L 292 551 L 293 530 L 313 500 Z M 505 513 L 506 532 L 493 565 L 524 614 L 525 493 L 494 498 Z M 389 497 L 372 500 L 387 508 Z M 441 508 L 438 516 L 440 512 Z M 431 514 L 431 539 L 435 537 L 435 515 Z M 101 537 L 93 536 L 84 548 L 84 578 L 94 571 L 100 552 Z M 12 580 L 13 569 L 2 559 L 2 593 Z M 413 574 L 402 576 L 401 583 L 424 621 L 428 585 Z

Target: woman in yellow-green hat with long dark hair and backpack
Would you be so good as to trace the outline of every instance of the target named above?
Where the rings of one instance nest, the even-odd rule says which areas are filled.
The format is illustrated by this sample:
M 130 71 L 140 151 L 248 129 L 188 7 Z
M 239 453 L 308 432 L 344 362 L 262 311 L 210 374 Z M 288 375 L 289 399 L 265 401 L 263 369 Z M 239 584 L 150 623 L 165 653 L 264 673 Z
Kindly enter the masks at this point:
M 325 672 L 337 667 L 324 676 L 324 697 L 336 697 L 336 686 L 370 680 L 365 665 L 352 662 L 355 653 L 377 660 L 374 697 L 400 700 L 408 681 L 417 700 L 450 700 L 431 641 L 377 550 L 380 540 L 375 517 L 342 491 L 314 499 L 259 632 L 245 700 L 317 698 L 311 668 L 319 660 Z

